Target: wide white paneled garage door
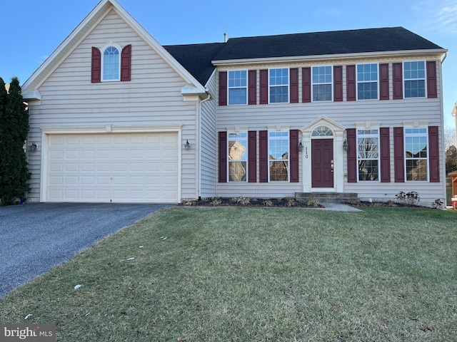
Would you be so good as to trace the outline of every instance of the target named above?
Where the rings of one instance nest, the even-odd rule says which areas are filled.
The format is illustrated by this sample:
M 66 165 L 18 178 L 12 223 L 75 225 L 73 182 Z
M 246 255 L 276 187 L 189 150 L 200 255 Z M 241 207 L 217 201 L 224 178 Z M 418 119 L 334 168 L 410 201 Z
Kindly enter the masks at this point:
M 49 135 L 48 202 L 178 202 L 178 134 Z

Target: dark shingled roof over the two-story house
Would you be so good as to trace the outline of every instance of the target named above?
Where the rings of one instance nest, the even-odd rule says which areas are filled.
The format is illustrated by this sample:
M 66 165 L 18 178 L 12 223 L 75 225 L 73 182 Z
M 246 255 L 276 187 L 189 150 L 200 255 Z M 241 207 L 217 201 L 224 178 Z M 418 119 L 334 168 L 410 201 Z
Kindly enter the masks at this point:
M 443 49 L 403 27 L 230 38 L 226 43 L 164 48 L 202 85 L 214 71 L 211 61 Z

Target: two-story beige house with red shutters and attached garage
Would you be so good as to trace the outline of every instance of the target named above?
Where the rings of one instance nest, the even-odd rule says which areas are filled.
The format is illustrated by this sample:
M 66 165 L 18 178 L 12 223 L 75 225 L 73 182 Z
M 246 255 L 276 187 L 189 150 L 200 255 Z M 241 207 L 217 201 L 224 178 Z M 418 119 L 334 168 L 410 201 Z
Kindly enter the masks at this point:
M 29 201 L 445 200 L 446 53 L 401 27 L 161 46 L 103 0 L 24 83 Z

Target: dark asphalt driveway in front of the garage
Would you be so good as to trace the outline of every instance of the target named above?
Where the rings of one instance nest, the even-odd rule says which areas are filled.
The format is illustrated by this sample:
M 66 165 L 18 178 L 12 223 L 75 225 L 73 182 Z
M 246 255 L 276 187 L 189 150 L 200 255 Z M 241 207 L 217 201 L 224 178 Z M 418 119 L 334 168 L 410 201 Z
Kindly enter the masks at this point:
M 0 297 L 122 227 L 171 206 L 37 203 L 0 207 Z

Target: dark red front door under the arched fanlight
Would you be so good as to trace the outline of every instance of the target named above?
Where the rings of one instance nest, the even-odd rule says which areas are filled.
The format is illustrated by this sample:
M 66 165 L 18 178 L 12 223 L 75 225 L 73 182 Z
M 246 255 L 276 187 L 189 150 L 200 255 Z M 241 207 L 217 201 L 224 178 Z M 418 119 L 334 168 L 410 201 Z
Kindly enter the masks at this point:
M 333 139 L 311 140 L 311 187 L 333 187 Z

